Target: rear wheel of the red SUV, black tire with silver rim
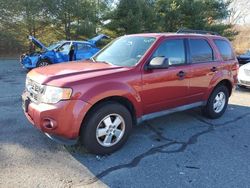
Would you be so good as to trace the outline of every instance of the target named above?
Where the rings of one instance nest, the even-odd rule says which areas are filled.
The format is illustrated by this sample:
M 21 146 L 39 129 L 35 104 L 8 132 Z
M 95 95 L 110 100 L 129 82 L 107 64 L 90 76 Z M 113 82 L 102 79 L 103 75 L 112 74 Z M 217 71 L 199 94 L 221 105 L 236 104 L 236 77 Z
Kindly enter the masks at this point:
M 202 109 L 203 115 L 211 119 L 221 117 L 226 111 L 228 99 L 228 88 L 225 85 L 218 85 L 210 95 L 207 105 Z

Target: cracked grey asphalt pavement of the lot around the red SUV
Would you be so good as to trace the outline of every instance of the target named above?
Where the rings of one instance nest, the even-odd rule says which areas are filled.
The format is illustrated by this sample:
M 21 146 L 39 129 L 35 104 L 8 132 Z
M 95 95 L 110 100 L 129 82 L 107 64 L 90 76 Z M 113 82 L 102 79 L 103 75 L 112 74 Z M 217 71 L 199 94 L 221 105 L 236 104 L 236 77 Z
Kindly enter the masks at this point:
M 0 61 L 0 187 L 250 186 L 250 89 L 237 88 L 220 119 L 198 108 L 143 122 L 121 150 L 95 156 L 26 120 L 26 73 L 17 60 Z

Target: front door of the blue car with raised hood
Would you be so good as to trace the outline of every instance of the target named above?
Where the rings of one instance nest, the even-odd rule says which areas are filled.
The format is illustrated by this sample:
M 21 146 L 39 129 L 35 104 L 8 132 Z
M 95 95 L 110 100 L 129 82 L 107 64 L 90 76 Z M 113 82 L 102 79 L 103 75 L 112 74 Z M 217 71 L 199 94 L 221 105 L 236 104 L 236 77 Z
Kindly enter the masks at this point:
M 71 48 L 71 42 L 66 42 L 61 45 L 56 51 L 56 63 L 67 62 L 69 61 L 69 51 Z

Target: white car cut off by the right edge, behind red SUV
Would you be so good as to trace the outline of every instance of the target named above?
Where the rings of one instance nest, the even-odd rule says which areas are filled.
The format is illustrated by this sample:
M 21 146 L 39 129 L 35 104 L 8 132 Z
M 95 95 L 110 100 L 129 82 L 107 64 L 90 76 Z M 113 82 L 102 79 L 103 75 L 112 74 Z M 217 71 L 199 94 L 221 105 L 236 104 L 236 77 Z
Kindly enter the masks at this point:
M 240 87 L 250 87 L 250 63 L 240 67 L 238 74 L 238 85 Z

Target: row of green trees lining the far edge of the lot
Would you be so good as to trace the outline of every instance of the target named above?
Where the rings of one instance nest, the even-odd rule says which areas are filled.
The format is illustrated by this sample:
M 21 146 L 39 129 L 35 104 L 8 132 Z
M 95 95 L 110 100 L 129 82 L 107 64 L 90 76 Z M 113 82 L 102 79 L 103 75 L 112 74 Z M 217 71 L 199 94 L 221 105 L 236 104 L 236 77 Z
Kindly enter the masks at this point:
M 29 49 L 28 35 L 46 45 L 141 32 L 206 29 L 233 38 L 224 0 L 0 0 L 0 54 Z

